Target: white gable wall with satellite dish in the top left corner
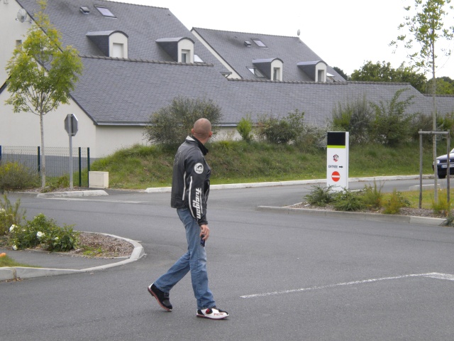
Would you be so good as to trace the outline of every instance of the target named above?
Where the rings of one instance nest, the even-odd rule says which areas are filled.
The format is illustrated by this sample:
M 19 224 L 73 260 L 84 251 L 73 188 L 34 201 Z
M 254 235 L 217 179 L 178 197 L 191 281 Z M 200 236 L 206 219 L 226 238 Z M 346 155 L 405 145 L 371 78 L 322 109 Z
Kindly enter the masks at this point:
M 30 17 L 23 23 L 16 21 L 17 12 L 21 6 L 16 0 L 9 0 L 8 4 L 0 0 L 0 86 L 6 81 L 6 63 L 13 56 L 13 50 L 16 48 L 16 40 L 25 40 Z

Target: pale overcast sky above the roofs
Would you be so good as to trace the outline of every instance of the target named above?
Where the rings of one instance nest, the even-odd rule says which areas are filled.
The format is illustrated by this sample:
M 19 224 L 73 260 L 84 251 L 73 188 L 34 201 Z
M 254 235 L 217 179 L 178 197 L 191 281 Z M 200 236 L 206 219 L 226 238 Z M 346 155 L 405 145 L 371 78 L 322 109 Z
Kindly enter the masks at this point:
M 116 1 L 116 0 L 114 0 Z M 400 32 L 407 12 L 404 6 L 414 0 L 319 0 L 319 1 L 208 1 L 208 0 L 121 0 L 170 9 L 189 30 L 193 27 L 222 31 L 297 36 L 328 65 L 340 67 L 347 75 L 365 61 L 409 65 L 402 47 L 393 53 L 389 42 Z M 451 24 L 454 11 L 450 11 Z M 446 20 L 446 19 L 445 19 Z M 454 41 L 443 43 L 454 50 Z M 439 53 L 436 77 L 454 79 L 454 55 Z M 428 77 L 431 75 L 428 75 Z

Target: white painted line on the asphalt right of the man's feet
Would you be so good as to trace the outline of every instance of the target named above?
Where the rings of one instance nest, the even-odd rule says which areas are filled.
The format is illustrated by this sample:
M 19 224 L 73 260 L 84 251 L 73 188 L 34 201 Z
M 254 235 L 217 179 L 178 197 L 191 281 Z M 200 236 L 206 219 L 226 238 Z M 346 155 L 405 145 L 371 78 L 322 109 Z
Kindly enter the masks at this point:
M 448 281 L 454 281 L 454 275 L 439 274 L 437 272 L 431 272 L 428 274 L 411 274 L 411 275 L 402 275 L 402 276 L 394 276 L 394 277 L 372 278 L 372 279 L 365 279 L 362 281 L 352 281 L 352 282 L 344 282 L 344 283 L 337 283 L 337 284 L 329 284 L 328 286 L 312 286 L 310 288 L 300 288 L 300 289 L 284 290 L 284 291 L 273 291 L 271 293 L 254 293 L 253 295 L 240 296 L 240 298 L 256 298 L 256 297 L 262 297 L 262 296 L 282 295 L 284 293 L 297 293 L 297 292 L 301 292 L 301 291 L 336 288 L 337 286 L 353 286 L 355 284 L 373 283 L 373 282 L 378 282 L 378 281 L 389 281 L 392 279 L 401 279 L 401 278 L 408 278 L 408 277 L 428 277 L 428 278 L 445 279 Z

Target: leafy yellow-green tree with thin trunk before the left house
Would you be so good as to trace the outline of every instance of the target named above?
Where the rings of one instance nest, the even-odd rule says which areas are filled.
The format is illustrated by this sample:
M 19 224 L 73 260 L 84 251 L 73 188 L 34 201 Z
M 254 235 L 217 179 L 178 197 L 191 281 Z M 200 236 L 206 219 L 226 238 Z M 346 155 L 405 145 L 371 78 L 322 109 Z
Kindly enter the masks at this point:
M 45 0 L 39 0 L 40 11 L 22 45 L 13 51 L 6 65 L 11 97 L 6 104 L 13 112 L 31 112 L 40 117 L 41 186 L 45 187 L 45 114 L 69 103 L 70 91 L 82 74 L 82 61 L 72 46 L 62 47 L 61 34 L 50 24 L 44 10 Z

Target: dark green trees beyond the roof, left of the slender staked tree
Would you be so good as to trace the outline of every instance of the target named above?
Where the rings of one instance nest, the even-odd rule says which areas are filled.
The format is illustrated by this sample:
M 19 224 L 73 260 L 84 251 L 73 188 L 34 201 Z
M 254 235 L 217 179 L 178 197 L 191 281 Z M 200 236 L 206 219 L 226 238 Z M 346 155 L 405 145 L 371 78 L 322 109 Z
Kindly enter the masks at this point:
M 397 69 L 391 67 L 391 63 L 372 63 L 368 60 L 360 69 L 354 70 L 350 80 L 362 82 L 404 82 L 410 83 L 419 92 L 426 89 L 426 76 L 423 73 L 414 71 L 413 67 L 405 66 L 402 63 Z

